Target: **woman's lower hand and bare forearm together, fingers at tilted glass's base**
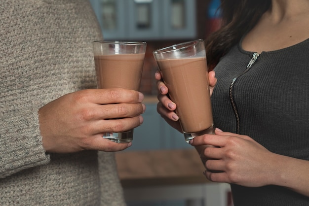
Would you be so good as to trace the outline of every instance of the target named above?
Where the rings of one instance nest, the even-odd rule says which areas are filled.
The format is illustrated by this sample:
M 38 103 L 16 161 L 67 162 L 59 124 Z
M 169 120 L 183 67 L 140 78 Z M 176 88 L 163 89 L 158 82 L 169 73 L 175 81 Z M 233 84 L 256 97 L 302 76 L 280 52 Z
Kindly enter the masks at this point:
M 215 135 L 194 137 L 195 147 L 213 145 L 200 153 L 205 176 L 214 182 L 246 187 L 278 185 L 309 197 L 309 161 L 275 154 L 251 137 L 215 130 Z

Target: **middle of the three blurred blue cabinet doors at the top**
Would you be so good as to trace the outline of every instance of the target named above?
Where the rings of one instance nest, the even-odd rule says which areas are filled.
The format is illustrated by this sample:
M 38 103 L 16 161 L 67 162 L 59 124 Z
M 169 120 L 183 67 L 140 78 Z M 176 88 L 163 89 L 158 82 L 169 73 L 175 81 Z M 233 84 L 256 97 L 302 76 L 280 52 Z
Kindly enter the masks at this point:
M 128 0 L 128 38 L 157 39 L 161 34 L 161 19 L 158 15 L 161 0 Z

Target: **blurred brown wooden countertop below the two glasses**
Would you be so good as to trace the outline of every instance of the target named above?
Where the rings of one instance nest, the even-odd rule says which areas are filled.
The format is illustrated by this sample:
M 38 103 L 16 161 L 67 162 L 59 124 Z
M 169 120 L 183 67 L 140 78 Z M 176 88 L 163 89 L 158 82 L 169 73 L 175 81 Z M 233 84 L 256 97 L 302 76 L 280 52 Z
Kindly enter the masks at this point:
M 116 152 L 122 186 L 162 186 L 206 183 L 195 149 Z

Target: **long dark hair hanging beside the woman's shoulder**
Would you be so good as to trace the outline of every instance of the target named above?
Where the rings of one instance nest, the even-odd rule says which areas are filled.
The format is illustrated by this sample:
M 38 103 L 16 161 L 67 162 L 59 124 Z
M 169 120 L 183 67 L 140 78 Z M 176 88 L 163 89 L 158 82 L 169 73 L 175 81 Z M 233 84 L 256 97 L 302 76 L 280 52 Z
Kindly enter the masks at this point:
M 270 5 L 271 0 L 221 0 L 222 27 L 205 41 L 209 69 L 254 27 Z

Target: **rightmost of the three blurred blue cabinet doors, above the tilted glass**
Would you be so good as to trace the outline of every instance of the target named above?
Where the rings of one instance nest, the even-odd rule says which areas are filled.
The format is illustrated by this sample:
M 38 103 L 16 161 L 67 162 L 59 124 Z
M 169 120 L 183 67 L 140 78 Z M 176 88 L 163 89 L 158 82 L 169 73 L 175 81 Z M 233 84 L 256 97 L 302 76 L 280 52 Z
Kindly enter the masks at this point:
M 164 0 L 163 38 L 195 38 L 195 0 Z

